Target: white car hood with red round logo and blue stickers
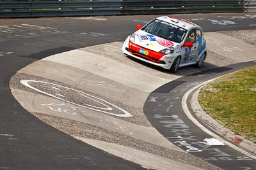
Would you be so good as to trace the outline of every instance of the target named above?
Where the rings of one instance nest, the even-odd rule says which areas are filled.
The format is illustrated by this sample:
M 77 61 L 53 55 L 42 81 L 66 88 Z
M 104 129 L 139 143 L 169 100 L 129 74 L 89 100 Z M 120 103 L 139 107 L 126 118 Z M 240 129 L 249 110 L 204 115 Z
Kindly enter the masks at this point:
M 177 45 L 179 45 L 179 43 L 175 43 L 168 39 L 163 39 L 159 36 L 154 36 L 142 30 L 136 31 L 134 38 L 135 38 L 134 43 L 136 43 L 136 45 L 142 46 L 144 48 L 147 48 L 149 50 L 153 50 L 156 52 L 164 50 L 165 48 L 168 48 L 168 47 L 175 48 Z

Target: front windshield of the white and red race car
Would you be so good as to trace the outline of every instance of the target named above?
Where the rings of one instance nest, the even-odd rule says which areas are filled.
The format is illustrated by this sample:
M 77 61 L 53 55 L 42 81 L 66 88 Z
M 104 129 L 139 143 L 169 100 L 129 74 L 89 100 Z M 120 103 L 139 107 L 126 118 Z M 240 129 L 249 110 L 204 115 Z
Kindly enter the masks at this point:
M 157 19 L 152 20 L 152 22 L 145 25 L 141 30 L 176 43 L 181 43 L 187 32 L 182 27 Z

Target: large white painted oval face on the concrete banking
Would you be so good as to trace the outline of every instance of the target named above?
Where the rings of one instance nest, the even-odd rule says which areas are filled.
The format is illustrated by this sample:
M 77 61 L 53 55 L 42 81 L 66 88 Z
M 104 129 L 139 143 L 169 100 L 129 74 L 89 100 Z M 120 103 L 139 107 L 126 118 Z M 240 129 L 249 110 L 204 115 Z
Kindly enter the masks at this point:
M 104 101 L 103 99 L 86 94 L 79 90 L 38 80 L 20 80 L 20 83 L 47 96 L 60 99 L 61 101 L 65 101 L 70 104 L 75 104 L 76 106 L 81 106 L 89 110 L 100 111 L 116 117 L 132 117 L 131 113 L 123 110 L 115 104 L 109 103 L 108 101 Z M 74 101 L 70 101 L 72 98 Z

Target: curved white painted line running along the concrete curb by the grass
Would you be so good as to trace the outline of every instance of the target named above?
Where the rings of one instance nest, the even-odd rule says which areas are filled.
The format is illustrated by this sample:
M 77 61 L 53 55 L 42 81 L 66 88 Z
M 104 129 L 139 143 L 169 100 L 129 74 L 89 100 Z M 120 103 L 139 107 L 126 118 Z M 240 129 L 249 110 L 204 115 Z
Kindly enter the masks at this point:
M 256 159 L 256 157 L 244 150 L 242 150 L 241 148 L 238 148 L 237 146 L 233 145 L 232 143 L 229 143 L 228 141 L 225 141 L 224 139 L 220 138 L 220 136 L 214 134 L 213 132 L 209 131 L 207 128 L 204 127 L 204 125 L 200 124 L 194 117 L 193 115 L 191 115 L 189 109 L 188 109 L 188 105 L 187 105 L 187 101 L 188 101 L 188 96 L 189 94 L 191 94 L 191 92 L 193 92 L 194 90 L 198 89 L 199 87 L 201 87 L 202 85 L 209 83 L 211 81 L 216 80 L 217 78 L 214 78 L 212 80 L 208 80 L 205 81 L 204 83 L 201 83 L 200 85 L 196 85 L 195 87 L 193 87 L 192 89 L 188 90 L 188 92 L 186 92 L 186 94 L 184 94 L 184 96 L 182 97 L 182 108 L 184 110 L 184 112 L 186 113 L 187 117 L 195 124 L 197 125 L 200 129 L 202 129 L 202 131 L 206 132 L 207 134 L 209 134 L 210 136 L 212 136 L 213 138 L 218 139 L 219 141 L 221 141 L 222 143 L 224 143 L 225 145 L 230 146 L 231 148 L 233 148 L 234 150 L 237 150 L 238 152 L 243 153 L 244 155 L 251 157 L 253 159 Z

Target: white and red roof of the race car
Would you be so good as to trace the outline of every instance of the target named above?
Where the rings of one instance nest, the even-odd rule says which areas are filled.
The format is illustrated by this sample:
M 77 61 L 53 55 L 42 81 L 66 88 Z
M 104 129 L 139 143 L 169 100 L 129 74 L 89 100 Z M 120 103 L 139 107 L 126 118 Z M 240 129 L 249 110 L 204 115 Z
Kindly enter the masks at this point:
M 198 27 L 198 28 L 200 28 L 198 25 L 196 25 L 196 24 L 194 24 L 192 22 L 189 22 L 187 20 L 180 19 L 180 18 L 163 16 L 163 17 L 158 17 L 157 19 L 158 20 L 163 20 L 164 22 L 168 22 L 170 24 L 177 25 L 177 26 L 182 27 L 182 28 L 187 29 L 187 30 L 189 28 L 191 28 L 191 27 Z

